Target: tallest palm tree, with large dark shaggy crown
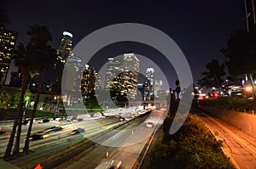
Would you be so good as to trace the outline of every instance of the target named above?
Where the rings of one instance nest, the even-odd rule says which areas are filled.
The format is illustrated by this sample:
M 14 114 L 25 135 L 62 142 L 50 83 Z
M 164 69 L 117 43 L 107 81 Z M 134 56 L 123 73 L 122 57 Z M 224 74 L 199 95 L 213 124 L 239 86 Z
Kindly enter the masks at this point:
M 27 31 L 27 34 L 31 36 L 31 45 L 34 50 L 33 58 L 34 65 L 38 68 L 40 72 L 40 78 L 38 82 L 38 92 L 35 99 L 35 104 L 33 106 L 31 121 L 26 134 L 26 142 L 23 149 L 23 152 L 28 152 L 29 150 L 29 137 L 32 131 L 32 123 L 35 118 L 38 101 L 40 98 L 40 93 L 42 92 L 43 81 L 44 81 L 44 71 L 55 63 L 56 55 L 55 49 L 51 48 L 47 43 L 52 40 L 49 30 L 45 26 L 34 25 L 30 27 L 31 30 Z

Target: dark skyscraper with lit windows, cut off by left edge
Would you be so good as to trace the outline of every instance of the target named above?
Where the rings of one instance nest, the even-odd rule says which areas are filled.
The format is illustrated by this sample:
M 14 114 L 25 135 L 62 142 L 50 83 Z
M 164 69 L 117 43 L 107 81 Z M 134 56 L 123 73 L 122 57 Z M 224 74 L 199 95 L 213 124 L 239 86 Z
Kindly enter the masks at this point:
M 0 27 L 0 85 L 3 85 L 15 48 L 16 33 Z

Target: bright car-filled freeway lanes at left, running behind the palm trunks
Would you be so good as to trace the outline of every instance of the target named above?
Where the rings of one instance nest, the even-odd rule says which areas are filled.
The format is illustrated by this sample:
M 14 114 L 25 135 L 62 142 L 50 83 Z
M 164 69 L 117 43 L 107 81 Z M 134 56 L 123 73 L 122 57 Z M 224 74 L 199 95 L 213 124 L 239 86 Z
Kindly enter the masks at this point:
M 99 121 L 102 121 L 102 127 L 99 124 Z M 60 126 L 63 127 L 63 130 L 61 131 L 56 131 L 56 132 L 43 132 L 44 134 L 49 135 L 49 138 L 44 138 L 41 140 L 35 140 L 35 141 L 31 141 L 30 142 L 30 148 L 31 149 L 35 149 L 35 148 L 39 148 L 42 147 L 44 145 L 50 145 L 50 144 L 58 144 L 61 142 L 65 142 L 66 140 L 68 140 L 69 143 L 76 143 L 79 140 L 83 139 L 83 138 L 76 138 L 73 137 L 73 135 L 71 135 L 71 131 L 73 131 L 74 129 L 80 127 L 80 128 L 84 128 L 86 133 L 90 133 L 90 132 L 96 132 L 97 130 L 102 130 L 106 127 L 109 126 L 113 126 L 113 125 L 118 125 L 120 123 L 120 121 L 118 120 L 118 118 L 104 118 L 101 120 L 92 120 L 92 121 L 79 121 L 79 122 L 49 122 L 49 123 L 44 123 L 44 124 L 35 124 L 35 130 L 32 130 L 32 134 L 33 133 L 37 133 L 38 131 L 43 131 L 45 128 L 48 127 L 53 127 L 53 126 Z M 26 127 L 24 127 L 26 129 Z M 36 131 L 36 132 L 34 132 Z M 20 137 L 20 150 L 22 150 L 23 145 L 25 143 L 25 138 L 26 138 L 26 130 L 22 130 L 21 132 L 21 137 Z M 4 154 L 4 150 L 8 144 L 9 141 L 9 135 L 2 135 L 0 137 L 0 156 L 3 156 Z

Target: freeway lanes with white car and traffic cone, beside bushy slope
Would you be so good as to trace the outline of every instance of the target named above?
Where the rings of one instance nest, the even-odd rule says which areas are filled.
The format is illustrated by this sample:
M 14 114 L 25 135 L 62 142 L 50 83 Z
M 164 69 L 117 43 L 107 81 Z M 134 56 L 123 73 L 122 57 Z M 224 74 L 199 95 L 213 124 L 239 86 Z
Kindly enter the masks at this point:
M 79 155 L 67 163 L 56 168 L 96 168 L 107 161 L 122 161 L 121 168 L 131 168 L 135 165 L 137 157 L 141 154 L 145 144 L 148 144 L 148 138 L 160 127 L 162 119 L 165 117 L 163 112 L 152 111 L 149 116 L 131 121 L 129 124 L 120 127 L 118 132 L 113 131 L 97 138 L 99 142 L 90 153 Z M 154 122 L 153 128 L 146 127 L 148 121 Z M 106 145 L 111 146 L 106 146 Z M 108 152 L 109 157 L 106 158 Z

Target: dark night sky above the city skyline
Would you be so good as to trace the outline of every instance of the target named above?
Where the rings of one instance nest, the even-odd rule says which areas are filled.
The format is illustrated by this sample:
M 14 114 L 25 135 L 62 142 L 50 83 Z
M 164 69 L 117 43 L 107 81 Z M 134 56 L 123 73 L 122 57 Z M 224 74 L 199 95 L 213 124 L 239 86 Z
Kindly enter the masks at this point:
M 236 30 L 246 30 L 243 0 L 44 0 L 44 1 L 4 1 L 10 24 L 7 27 L 17 31 L 18 42 L 27 42 L 26 31 L 30 25 L 45 25 L 52 34 L 51 45 L 58 48 L 62 32 L 73 33 L 73 46 L 82 38 L 103 26 L 118 23 L 140 23 L 151 25 L 165 32 L 177 42 L 189 61 L 194 81 L 201 78 L 201 71 L 212 59 L 224 62 L 219 52 L 226 47 L 230 34 Z M 133 52 L 153 59 L 160 65 L 169 82 L 174 84 L 175 72 L 171 65 L 152 48 L 145 45 L 117 43 L 103 48 L 95 60 L 105 60 L 115 55 Z M 99 57 L 103 59 L 99 59 Z M 102 63 L 103 64 L 103 63 Z M 97 66 L 101 66 L 98 62 Z

